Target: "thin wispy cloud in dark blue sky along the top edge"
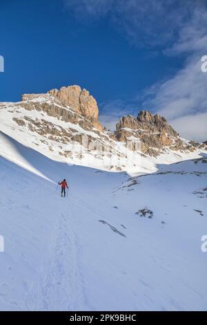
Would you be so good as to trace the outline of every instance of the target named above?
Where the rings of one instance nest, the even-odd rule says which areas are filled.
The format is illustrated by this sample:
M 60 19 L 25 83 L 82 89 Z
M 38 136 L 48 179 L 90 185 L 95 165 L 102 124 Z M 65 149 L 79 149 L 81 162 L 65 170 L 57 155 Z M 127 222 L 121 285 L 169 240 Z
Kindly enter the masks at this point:
M 168 46 L 189 19 L 194 0 L 61 0 L 79 21 L 108 17 L 138 46 Z M 199 2 L 200 0 L 197 0 Z M 202 1 L 202 0 L 201 0 Z

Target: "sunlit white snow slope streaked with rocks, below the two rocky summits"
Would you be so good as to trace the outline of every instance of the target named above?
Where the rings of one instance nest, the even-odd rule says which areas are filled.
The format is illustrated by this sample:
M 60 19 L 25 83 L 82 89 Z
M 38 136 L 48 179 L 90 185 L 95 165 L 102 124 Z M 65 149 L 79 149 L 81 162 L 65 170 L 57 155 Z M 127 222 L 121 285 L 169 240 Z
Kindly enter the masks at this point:
M 149 112 L 148 115 L 152 118 Z M 163 121 L 161 117 L 160 120 Z M 163 123 L 177 134 L 167 122 Z M 148 122 L 145 124 L 148 127 Z M 152 130 L 153 127 L 152 124 Z M 125 140 L 118 141 L 115 134 L 97 130 L 90 120 L 48 93 L 30 95 L 21 102 L 1 102 L 0 131 L 52 160 L 131 174 L 154 172 L 157 164 L 198 158 L 201 152 L 207 154 L 205 145 L 193 147 L 177 135 L 170 138 L 165 130 L 154 134 L 139 129 L 136 137 L 124 136 Z M 151 155 L 142 151 L 146 146 Z

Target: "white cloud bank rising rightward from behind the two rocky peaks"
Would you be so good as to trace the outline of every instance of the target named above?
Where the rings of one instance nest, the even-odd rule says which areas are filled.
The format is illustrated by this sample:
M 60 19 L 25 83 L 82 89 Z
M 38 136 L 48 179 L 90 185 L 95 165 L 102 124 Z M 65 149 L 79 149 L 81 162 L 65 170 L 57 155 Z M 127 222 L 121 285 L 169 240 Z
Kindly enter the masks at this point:
M 154 84 L 131 100 L 114 100 L 101 105 L 100 120 L 113 130 L 123 115 L 140 109 L 160 113 L 184 138 L 207 140 L 207 73 L 201 60 L 192 61 L 170 80 Z

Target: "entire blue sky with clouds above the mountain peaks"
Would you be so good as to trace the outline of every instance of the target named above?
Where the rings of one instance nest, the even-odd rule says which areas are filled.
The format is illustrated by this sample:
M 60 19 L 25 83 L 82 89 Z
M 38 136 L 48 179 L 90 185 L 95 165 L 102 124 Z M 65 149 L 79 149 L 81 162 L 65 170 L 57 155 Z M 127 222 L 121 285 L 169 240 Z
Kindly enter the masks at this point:
M 155 4 L 156 3 L 156 4 Z M 1 0 L 0 101 L 79 84 L 100 120 L 161 113 L 182 136 L 207 139 L 206 1 Z M 196 121 L 196 123 L 195 123 Z

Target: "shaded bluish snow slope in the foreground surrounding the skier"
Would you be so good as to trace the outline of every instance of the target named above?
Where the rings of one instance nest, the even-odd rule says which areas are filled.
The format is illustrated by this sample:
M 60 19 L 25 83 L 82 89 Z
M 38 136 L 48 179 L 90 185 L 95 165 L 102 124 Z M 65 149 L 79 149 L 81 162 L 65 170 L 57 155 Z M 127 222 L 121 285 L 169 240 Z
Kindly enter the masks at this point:
M 207 310 L 205 157 L 130 178 L 0 142 L 0 310 Z

